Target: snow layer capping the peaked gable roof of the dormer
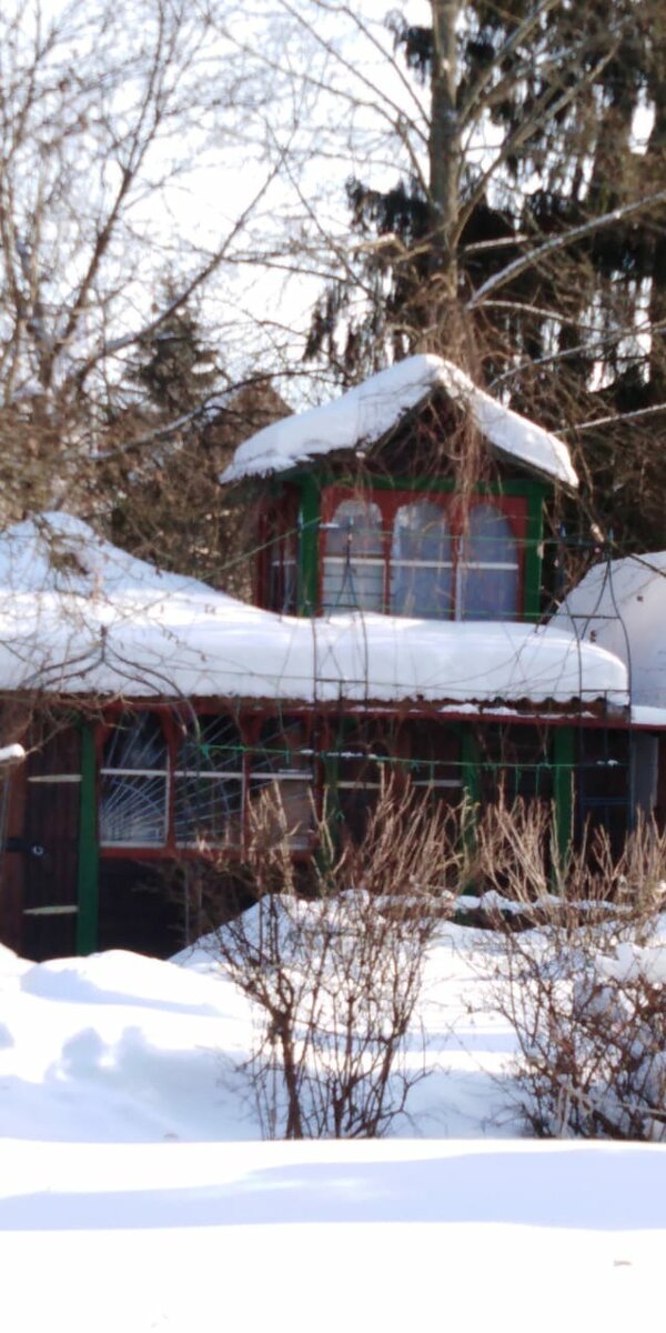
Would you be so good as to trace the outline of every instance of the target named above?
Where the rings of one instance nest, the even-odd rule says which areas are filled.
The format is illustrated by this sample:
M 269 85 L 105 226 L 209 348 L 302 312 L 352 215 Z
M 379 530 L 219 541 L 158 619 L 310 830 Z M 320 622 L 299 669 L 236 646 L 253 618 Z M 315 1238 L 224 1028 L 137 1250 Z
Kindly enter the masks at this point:
M 410 356 L 333 403 L 274 421 L 236 449 L 220 481 L 281 472 L 337 449 L 362 449 L 381 440 L 437 388 L 470 412 L 481 435 L 501 453 L 554 481 L 578 485 L 566 444 L 497 403 L 440 356 Z

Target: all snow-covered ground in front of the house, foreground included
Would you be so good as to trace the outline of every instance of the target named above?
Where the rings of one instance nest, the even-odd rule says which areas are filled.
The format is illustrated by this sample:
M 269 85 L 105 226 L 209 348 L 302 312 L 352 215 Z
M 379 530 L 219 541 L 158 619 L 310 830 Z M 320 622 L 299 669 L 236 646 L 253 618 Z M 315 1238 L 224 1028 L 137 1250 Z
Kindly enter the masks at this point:
M 400 1136 L 258 1142 L 208 954 L 0 950 L 3 1325 L 626 1330 L 662 1320 L 666 1146 L 521 1138 L 492 934 L 448 926 Z

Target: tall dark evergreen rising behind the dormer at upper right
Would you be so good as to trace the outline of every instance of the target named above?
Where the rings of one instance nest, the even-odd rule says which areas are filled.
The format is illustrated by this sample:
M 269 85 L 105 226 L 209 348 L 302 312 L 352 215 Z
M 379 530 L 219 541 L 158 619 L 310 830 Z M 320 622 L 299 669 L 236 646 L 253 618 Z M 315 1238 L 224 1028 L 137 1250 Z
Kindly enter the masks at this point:
M 428 93 L 426 167 L 389 189 L 348 183 L 357 260 L 317 303 L 306 356 L 344 383 L 412 351 L 450 356 L 569 432 L 587 519 L 661 545 L 663 7 L 430 9 L 429 25 L 389 20 L 396 59 Z

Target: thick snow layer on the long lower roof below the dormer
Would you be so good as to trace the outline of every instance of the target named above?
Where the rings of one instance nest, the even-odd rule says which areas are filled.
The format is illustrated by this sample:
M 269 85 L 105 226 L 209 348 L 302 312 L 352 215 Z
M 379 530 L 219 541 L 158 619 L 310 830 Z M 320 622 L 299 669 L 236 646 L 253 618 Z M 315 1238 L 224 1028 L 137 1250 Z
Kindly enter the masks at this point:
M 47 564 L 49 531 L 65 553 L 56 569 Z M 67 568 L 73 553 L 83 573 Z M 281 617 L 161 573 L 61 515 L 0 535 L 0 688 L 140 698 L 627 702 L 618 657 L 561 627 Z

